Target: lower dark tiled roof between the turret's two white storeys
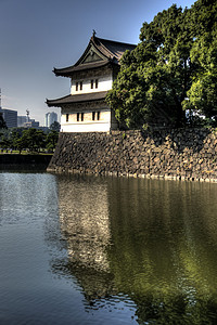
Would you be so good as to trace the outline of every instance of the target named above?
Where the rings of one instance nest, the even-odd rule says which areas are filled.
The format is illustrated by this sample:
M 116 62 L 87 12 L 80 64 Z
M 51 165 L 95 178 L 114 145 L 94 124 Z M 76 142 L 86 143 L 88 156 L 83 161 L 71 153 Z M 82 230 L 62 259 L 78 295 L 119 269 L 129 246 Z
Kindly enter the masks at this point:
M 49 107 L 52 106 L 61 107 L 64 104 L 101 101 L 105 99 L 106 93 L 107 91 L 101 91 L 101 92 L 91 92 L 91 93 L 84 93 L 77 95 L 67 95 L 56 100 L 47 100 L 47 105 Z

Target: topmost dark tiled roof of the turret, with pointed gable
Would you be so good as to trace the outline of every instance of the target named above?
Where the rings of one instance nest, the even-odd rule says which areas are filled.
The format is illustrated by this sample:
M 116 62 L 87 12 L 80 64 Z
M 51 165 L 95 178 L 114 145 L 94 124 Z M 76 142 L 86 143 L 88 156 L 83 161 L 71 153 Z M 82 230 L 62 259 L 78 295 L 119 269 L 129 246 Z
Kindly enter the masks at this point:
M 84 58 L 86 57 L 88 51 L 91 47 L 94 47 L 97 51 L 101 54 L 102 61 L 95 61 L 90 63 L 82 64 Z M 85 69 L 93 69 L 98 67 L 105 66 L 107 64 L 118 65 L 120 57 L 123 56 L 126 50 L 132 51 L 136 48 L 133 44 L 112 41 L 103 38 L 98 38 L 92 36 L 87 49 L 80 56 L 80 58 L 76 62 L 75 65 L 56 69 L 53 72 L 56 76 L 69 77 L 75 72 L 81 72 Z

